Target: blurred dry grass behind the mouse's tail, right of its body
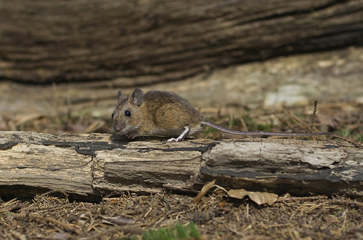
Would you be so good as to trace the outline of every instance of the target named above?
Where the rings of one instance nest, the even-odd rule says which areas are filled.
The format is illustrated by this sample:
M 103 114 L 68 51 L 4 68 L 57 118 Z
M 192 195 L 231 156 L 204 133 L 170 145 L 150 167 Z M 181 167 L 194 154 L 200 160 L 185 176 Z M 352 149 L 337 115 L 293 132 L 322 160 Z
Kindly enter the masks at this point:
M 226 128 L 240 131 L 267 131 L 309 133 L 312 124 L 312 107 L 284 107 L 281 110 L 224 109 L 223 113 L 206 114 L 209 121 Z M 227 114 L 229 113 L 229 114 Z M 318 105 L 313 132 L 333 132 L 350 141 L 363 143 L 363 104 Z M 229 135 L 212 128 L 204 128 L 199 138 L 225 139 L 246 138 Z M 252 138 L 248 136 L 248 138 Z M 308 140 L 309 137 L 276 137 Z M 315 136 L 312 139 L 332 139 L 333 136 Z

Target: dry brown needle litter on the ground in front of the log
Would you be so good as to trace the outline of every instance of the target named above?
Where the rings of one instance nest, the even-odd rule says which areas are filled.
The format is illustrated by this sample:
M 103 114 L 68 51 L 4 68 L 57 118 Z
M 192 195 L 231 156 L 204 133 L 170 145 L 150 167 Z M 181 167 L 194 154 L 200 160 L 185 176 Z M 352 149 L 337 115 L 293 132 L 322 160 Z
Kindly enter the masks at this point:
M 141 239 L 145 229 L 189 222 L 203 239 L 363 238 L 363 202 L 339 196 L 280 197 L 272 206 L 215 195 L 195 205 L 193 197 L 171 193 L 124 195 L 97 204 L 42 196 L 21 210 L 5 209 L 14 203 L 2 204 L 2 239 Z

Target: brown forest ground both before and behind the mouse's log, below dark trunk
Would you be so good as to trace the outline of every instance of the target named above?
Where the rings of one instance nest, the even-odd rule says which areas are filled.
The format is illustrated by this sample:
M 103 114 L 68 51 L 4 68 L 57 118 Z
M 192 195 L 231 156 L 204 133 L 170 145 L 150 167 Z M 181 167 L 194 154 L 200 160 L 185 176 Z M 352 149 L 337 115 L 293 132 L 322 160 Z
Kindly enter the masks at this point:
M 313 131 L 334 132 L 361 148 L 362 62 L 363 48 L 345 49 L 232 66 L 209 76 L 146 86 L 145 90 L 177 92 L 209 121 L 241 131 L 309 132 L 312 102 L 322 99 Z M 119 87 L 113 88 L 78 86 L 81 91 L 75 86 L 0 82 L 0 130 L 109 133 Z M 277 107 L 271 107 L 268 99 L 275 99 L 272 103 Z M 204 127 L 196 137 L 238 136 Z M 1 239 L 130 239 L 132 235 L 136 236 L 132 239 L 142 239 L 146 229 L 190 222 L 195 222 L 201 239 L 208 240 L 363 239 L 363 198 L 346 196 L 287 195 L 272 206 L 212 193 L 197 205 L 192 203 L 195 196 L 177 193 L 125 193 L 105 196 L 97 203 L 74 201 L 62 193 L 19 200 L 0 197 Z

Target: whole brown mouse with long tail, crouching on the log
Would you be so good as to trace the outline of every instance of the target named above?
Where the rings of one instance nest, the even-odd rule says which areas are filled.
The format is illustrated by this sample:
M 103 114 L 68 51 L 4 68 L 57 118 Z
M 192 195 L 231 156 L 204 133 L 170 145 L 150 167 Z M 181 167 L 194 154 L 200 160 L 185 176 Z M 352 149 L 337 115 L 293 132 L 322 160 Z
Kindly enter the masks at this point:
M 315 136 L 333 133 L 283 133 L 246 132 L 226 129 L 206 121 L 204 116 L 185 98 L 171 92 L 151 90 L 143 92 L 136 88 L 129 96 L 117 92 L 117 105 L 111 115 L 112 128 L 121 137 L 134 139 L 140 136 L 170 137 L 167 142 L 180 142 L 207 125 L 234 135 L 267 136 Z

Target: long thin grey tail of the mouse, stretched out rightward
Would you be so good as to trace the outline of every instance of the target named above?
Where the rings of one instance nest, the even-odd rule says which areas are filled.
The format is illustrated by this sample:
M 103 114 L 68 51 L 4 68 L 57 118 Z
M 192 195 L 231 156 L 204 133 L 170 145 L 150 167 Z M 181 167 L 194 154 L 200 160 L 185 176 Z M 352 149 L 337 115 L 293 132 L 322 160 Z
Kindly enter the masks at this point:
M 279 133 L 279 132 L 263 132 L 263 131 L 256 131 L 256 132 L 245 132 L 245 131 L 235 131 L 231 129 L 223 128 L 222 126 L 216 125 L 209 121 L 201 122 L 203 125 L 207 125 L 211 128 L 217 129 L 224 133 L 234 134 L 234 135 L 267 135 L 267 136 L 313 136 L 313 135 L 332 135 L 333 133 Z

